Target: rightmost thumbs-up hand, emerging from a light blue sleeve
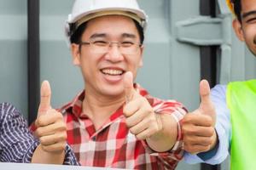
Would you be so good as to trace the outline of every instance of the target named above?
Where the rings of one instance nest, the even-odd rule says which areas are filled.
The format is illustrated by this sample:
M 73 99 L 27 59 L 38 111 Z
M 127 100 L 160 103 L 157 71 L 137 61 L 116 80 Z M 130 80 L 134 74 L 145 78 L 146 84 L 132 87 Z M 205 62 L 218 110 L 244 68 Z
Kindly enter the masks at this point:
M 210 87 L 206 80 L 200 82 L 201 104 L 182 122 L 183 149 L 191 154 L 212 150 L 218 142 L 214 126 L 216 112 L 210 99 Z

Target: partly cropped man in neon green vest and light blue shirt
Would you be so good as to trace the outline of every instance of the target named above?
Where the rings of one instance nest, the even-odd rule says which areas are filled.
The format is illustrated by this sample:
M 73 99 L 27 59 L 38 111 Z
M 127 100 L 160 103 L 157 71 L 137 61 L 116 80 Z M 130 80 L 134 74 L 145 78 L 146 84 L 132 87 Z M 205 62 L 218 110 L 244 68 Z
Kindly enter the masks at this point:
M 256 0 L 227 0 L 227 4 L 236 16 L 232 23 L 236 36 L 256 56 Z M 189 152 L 185 161 L 218 164 L 230 153 L 230 169 L 256 169 L 256 79 L 217 85 L 211 99 L 217 116 L 216 122 L 212 117 L 213 133 L 217 135 L 212 135 L 209 126 L 201 126 L 204 117 L 185 116 L 183 148 Z

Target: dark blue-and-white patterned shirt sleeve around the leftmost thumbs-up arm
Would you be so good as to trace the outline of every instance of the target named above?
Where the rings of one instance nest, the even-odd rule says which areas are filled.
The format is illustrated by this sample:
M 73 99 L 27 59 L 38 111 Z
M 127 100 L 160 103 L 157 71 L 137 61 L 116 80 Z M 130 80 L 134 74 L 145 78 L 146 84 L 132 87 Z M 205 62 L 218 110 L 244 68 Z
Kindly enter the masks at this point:
M 31 162 L 39 141 L 27 127 L 26 119 L 14 106 L 0 104 L 0 161 Z M 79 165 L 73 150 L 66 146 L 63 164 Z

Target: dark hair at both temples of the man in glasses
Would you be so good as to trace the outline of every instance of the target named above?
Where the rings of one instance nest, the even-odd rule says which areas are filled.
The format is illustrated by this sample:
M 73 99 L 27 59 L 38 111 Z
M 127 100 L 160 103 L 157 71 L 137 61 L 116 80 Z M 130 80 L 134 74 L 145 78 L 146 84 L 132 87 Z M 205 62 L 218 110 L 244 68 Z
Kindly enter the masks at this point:
M 136 20 L 133 20 L 135 23 L 135 26 L 137 28 L 139 37 L 140 37 L 140 43 L 143 44 L 144 42 L 144 31 L 143 27 L 139 25 L 139 23 Z M 73 35 L 70 37 L 71 43 L 77 43 L 79 44 L 81 42 L 81 37 L 86 29 L 87 22 L 84 22 L 79 28 L 73 33 Z

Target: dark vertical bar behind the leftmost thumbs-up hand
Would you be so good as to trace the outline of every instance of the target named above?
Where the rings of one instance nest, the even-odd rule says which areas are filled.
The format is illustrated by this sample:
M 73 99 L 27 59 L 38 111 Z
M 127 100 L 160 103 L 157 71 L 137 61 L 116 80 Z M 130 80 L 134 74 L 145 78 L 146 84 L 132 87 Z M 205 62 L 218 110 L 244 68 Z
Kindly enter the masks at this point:
M 40 94 L 39 0 L 27 0 L 27 24 L 28 122 L 30 124 L 37 117 Z

